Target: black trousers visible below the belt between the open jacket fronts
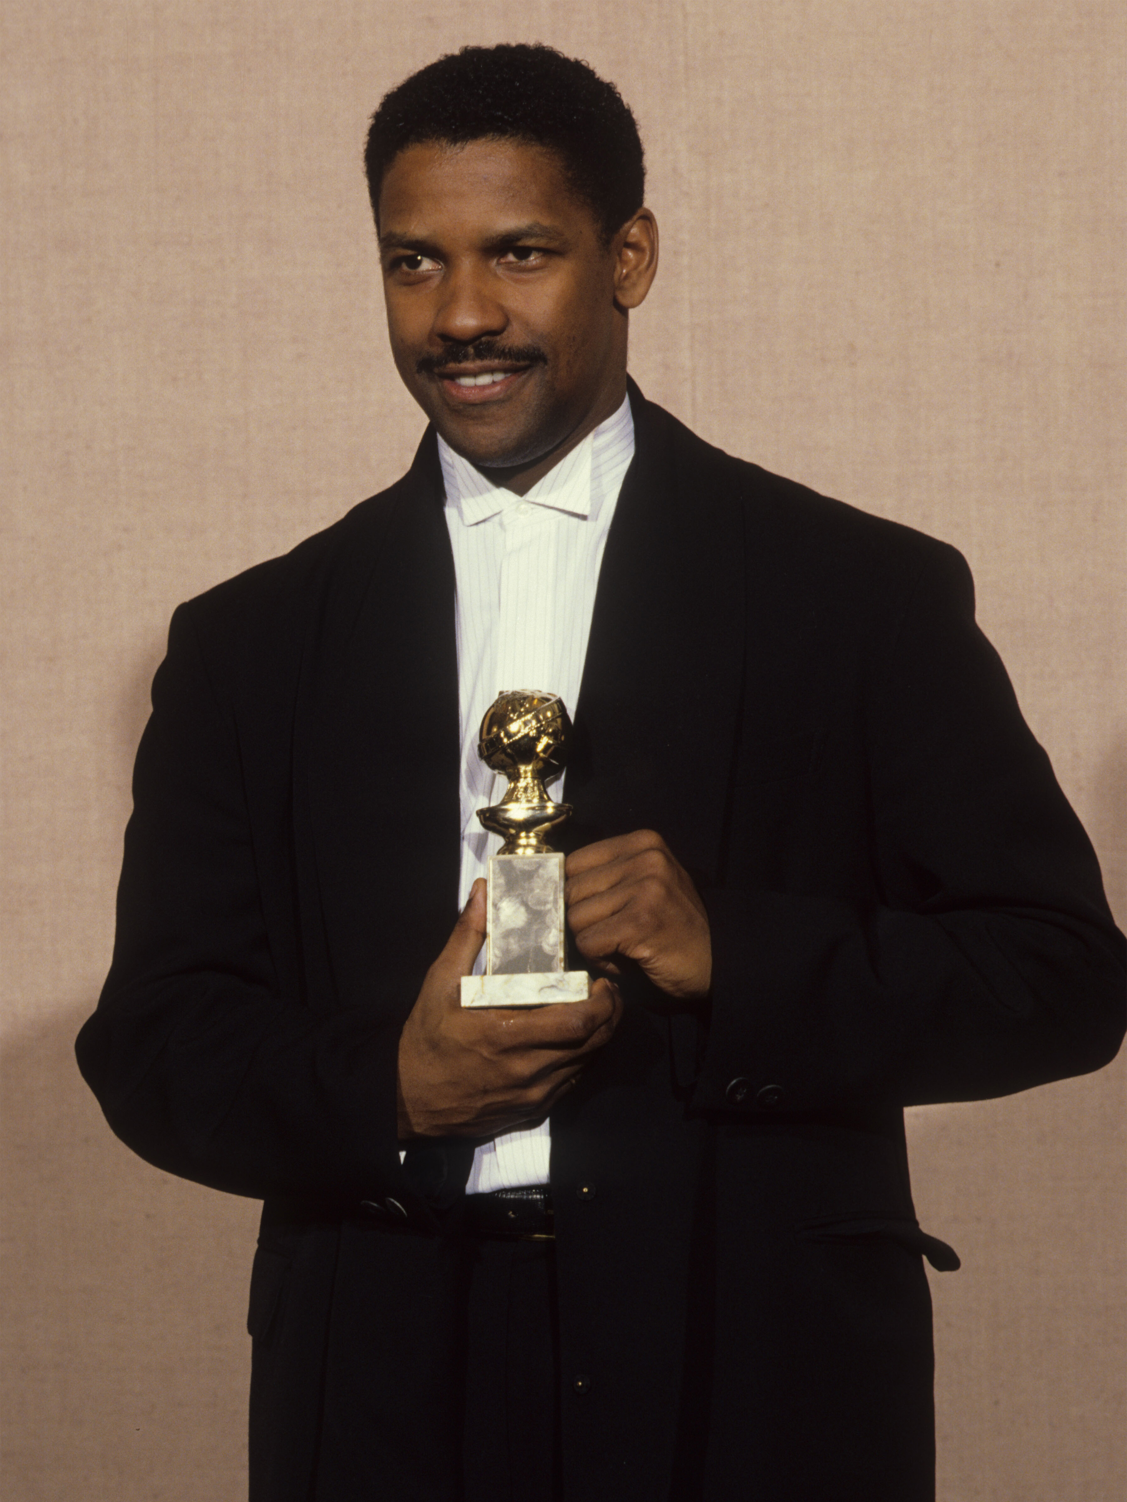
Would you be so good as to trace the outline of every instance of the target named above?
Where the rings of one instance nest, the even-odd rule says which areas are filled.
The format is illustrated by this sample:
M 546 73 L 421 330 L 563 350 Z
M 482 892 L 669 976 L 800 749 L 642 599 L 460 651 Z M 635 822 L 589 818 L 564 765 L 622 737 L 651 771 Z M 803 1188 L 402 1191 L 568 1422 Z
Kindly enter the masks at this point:
M 466 1502 L 559 1502 L 559 1335 L 550 1241 L 470 1250 Z

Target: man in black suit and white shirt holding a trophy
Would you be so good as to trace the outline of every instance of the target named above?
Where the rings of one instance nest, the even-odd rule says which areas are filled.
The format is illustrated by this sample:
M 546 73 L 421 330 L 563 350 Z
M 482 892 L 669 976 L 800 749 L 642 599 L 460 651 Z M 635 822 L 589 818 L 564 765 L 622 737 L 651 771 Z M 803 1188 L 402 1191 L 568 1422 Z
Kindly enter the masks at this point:
M 957 1259 L 903 1107 L 1113 1056 L 1092 852 L 959 554 L 628 386 L 657 225 L 609 84 L 466 50 L 367 167 L 430 427 L 176 613 L 78 1042 L 137 1152 L 266 1202 L 252 1496 L 930 1497 Z M 574 710 L 594 982 L 463 1012 L 512 688 Z

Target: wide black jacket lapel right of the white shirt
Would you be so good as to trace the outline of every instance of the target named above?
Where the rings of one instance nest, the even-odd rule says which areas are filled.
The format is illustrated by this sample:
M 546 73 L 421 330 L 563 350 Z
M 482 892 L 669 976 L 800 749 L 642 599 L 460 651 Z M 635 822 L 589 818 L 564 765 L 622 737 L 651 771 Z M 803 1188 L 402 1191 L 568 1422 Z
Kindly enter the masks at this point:
M 630 397 L 636 451 L 576 707 L 570 843 L 657 829 L 682 865 L 711 880 L 741 707 L 742 517 L 703 463 L 712 451 L 633 382 Z

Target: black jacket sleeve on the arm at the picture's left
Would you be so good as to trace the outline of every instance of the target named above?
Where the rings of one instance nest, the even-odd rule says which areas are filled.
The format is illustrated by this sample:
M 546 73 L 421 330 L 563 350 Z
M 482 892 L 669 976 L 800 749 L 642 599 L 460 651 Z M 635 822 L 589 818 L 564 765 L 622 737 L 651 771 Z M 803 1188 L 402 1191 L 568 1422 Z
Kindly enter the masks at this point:
M 125 837 L 117 939 L 77 1054 L 114 1133 L 218 1190 L 409 1199 L 398 1021 L 317 1017 L 267 940 L 237 728 L 180 607 L 153 680 Z M 392 1009 L 394 1011 L 394 1009 Z

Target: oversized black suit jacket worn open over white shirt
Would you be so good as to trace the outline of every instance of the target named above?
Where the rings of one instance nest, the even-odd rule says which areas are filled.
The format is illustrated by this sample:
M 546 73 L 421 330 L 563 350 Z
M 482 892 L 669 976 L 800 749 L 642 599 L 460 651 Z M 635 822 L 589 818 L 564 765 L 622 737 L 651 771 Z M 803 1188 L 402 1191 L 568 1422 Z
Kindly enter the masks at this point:
M 670 1015 L 636 985 L 553 1114 L 567 1496 L 917 1502 L 921 1256 L 954 1257 L 915 1223 L 902 1108 L 1110 1059 L 1122 942 L 962 557 L 631 403 L 571 838 L 666 837 L 714 993 Z M 78 1041 L 141 1157 L 266 1202 L 257 1499 L 458 1494 L 470 1251 L 442 1155 L 427 1184 L 395 1140 L 457 787 L 427 434 L 391 490 L 177 610 Z

